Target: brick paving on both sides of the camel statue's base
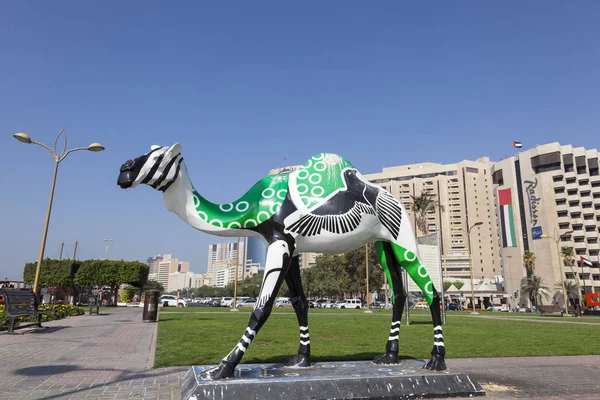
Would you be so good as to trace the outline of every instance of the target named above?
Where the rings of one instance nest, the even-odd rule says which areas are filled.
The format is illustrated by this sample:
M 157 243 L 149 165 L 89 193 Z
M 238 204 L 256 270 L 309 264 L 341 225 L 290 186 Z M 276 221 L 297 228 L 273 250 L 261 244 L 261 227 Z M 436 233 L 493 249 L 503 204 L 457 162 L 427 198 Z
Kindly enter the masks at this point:
M 156 324 L 141 308 L 0 335 L 0 399 L 180 399 L 187 368 L 152 369 Z M 17 332 L 24 332 L 17 331 Z M 543 346 L 543 343 L 540 343 Z M 590 338 L 590 346 L 598 346 Z M 600 399 L 600 356 L 449 359 L 483 399 Z

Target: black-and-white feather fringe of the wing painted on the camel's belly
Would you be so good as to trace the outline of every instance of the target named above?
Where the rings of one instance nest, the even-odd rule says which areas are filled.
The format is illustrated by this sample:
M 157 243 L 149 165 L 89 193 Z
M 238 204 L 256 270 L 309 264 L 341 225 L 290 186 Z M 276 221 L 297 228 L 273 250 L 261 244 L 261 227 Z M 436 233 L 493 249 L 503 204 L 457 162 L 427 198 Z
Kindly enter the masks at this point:
M 360 225 L 362 214 L 375 215 L 375 210 L 368 204 L 354 202 L 350 211 L 337 215 L 306 214 L 287 229 L 302 236 L 313 236 L 326 231 L 342 234 L 352 232 Z

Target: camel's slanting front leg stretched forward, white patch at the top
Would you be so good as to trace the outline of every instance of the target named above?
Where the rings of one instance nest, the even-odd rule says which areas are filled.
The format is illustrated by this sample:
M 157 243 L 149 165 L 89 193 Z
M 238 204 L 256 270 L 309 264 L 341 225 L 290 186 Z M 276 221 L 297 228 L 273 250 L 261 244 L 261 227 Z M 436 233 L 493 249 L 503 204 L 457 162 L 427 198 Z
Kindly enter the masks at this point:
M 202 379 L 216 380 L 233 377 L 235 367 L 240 363 L 250 343 L 271 315 L 275 297 L 289 268 L 290 255 L 293 253 L 293 249 L 290 247 L 292 246 L 285 240 L 274 240 L 269 245 L 262 287 L 250 315 L 248 327 L 233 350 L 223 358 L 217 367 L 204 372 Z

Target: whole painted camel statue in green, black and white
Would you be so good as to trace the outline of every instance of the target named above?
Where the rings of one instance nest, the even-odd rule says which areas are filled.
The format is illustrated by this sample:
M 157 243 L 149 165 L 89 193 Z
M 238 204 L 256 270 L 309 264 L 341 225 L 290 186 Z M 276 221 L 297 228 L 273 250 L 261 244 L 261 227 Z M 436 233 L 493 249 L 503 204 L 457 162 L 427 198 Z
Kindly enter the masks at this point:
M 118 185 L 146 184 L 163 192 L 167 209 L 192 227 L 217 236 L 255 236 L 267 243 L 260 294 L 242 338 L 203 379 L 224 379 L 265 324 L 275 296 L 285 281 L 300 325 L 298 354 L 288 367 L 310 366 L 308 301 L 302 289 L 298 255 L 303 252 L 345 253 L 375 241 L 379 263 L 391 287 L 393 313 L 386 351 L 378 364 L 398 359 L 400 321 L 406 300 L 400 268 L 406 269 L 423 292 L 431 310 L 434 343 L 429 370 L 446 369 L 440 297 L 419 260 L 410 220 L 390 193 L 366 180 L 350 162 L 331 153 L 317 154 L 291 173 L 269 175 L 240 199 L 214 204 L 192 185 L 179 143 L 152 146 L 151 151 L 121 166 Z

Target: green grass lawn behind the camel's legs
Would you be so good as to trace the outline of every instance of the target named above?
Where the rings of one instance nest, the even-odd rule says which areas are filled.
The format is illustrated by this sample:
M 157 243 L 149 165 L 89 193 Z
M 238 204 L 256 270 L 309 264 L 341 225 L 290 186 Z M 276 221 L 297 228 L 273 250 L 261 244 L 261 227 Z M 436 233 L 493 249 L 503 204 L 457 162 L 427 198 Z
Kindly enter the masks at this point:
M 249 316 L 249 310 L 233 313 L 227 308 L 162 308 L 154 366 L 219 363 L 240 339 Z M 600 319 L 592 318 L 585 317 L 583 322 L 600 323 Z M 312 360 L 373 359 L 385 350 L 390 320 L 391 312 L 385 310 L 365 314 L 363 310 L 311 309 Z M 428 358 L 433 347 L 431 317 L 427 311 L 411 311 L 410 320 L 409 326 L 403 322 L 400 328 L 400 355 Z M 577 322 L 576 318 L 569 320 Z M 598 331 L 598 325 L 539 323 L 518 317 L 495 320 L 452 312 L 444 326 L 444 341 L 447 358 L 600 354 Z M 274 309 L 242 362 L 281 362 L 296 354 L 298 341 L 293 310 Z

